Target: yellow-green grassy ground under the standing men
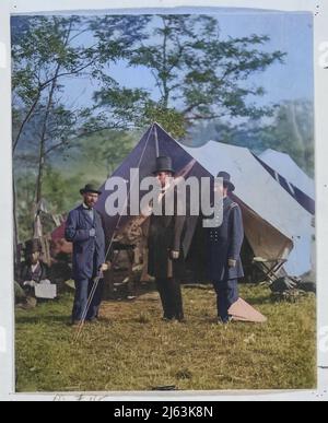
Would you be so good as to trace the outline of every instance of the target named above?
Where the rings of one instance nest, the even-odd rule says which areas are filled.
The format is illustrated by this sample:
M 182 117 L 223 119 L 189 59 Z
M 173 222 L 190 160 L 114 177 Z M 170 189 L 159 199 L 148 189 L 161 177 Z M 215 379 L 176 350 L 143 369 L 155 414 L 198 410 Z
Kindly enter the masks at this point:
M 265 325 L 214 324 L 210 286 L 184 287 L 187 322 L 161 320 L 155 293 L 107 302 L 73 343 L 72 296 L 16 313 L 16 389 L 30 391 L 291 389 L 316 385 L 315 297 L 276 303 L 263 286 L 242 296 Z

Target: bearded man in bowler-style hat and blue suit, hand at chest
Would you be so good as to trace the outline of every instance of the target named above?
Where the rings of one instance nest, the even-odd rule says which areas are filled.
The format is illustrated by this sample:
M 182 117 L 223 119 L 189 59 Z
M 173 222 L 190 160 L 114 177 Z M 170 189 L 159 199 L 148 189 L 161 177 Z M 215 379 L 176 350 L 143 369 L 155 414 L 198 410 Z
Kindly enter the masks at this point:
M 83 203 L 69 213 L 66 223 L 66 239 L 73 243 L 73 278 L 75 298 L 72 312 L 72 324 L 80 325 L 84 319 L 94 321 L 98 317 L 102 302 L 103 280 L 89 304 L 95 278 L 108 269 L 105 263 L 105 234 L 99 212 L 94 209 L 101 191 L 86 185 L 80 190 Z

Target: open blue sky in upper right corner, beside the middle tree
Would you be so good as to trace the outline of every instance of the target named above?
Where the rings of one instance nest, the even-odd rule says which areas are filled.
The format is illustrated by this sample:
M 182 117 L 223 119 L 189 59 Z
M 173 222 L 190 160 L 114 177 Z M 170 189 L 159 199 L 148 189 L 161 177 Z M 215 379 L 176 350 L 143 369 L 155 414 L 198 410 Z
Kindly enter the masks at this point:
M 222 35 L 269 35 L 265 49 L 286 52 L 285 64 L 276 63 L 254 75 L 269 102 L 314 96 L 313 22 L 309 13 L 258 13 L 223 15 Z

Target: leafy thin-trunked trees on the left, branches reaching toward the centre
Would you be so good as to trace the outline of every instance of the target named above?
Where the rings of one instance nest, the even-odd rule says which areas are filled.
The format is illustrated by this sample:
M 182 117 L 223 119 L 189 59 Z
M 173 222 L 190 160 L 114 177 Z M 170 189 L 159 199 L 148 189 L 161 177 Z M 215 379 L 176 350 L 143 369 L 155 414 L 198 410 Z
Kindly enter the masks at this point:
M 75 108 L 74 98 L 71 104 L 63 99 L 65 84 L 72 78 L 89 81 L 106 78 L 108 86 L 117 87 L 107 68 L 124 57 L 133 39 L 121 34 L 128 24 L 125 16 L 102 21 L 107 25 L 107 38 L 98 32 L 98 22 L 97 17 L 81 16 L 13 19 L 13 153 L 15 164 L 24 157 L 25 165 L 34 168 L 35 203 L 43 197 L 51 157 L 65 154 L 81 134 L 105 126 L 103 116 L 93 107 Z M 137 31 L 137 24 L 133 28 Z M 89 33 L 86 38 L 85 33 Z M 113 115 L 106 119 L 107 128 L 118 126 L 125 128 L 121 116 L 119 122 Z M 15 174 L 19 172 L 20 168 Z M 16 199 L 15 179 L 13 186 Z

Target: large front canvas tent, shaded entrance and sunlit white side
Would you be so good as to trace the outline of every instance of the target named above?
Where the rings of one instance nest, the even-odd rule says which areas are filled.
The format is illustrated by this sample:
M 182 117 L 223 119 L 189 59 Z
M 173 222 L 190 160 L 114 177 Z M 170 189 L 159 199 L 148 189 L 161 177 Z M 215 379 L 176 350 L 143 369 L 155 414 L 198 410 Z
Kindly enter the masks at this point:
M 210 141 L 200 148 L 186 148 L 175 141 L 159 125 L 154 124 L 142 137 L 113 176 L 120 176 L 130 186 L 130 169 L 139 168 L 140 179 L 150 176 L 159 155 L 171 155 L 178 174 L 186 177 L 216 176 L 220 171 L 232 175 L 236 186 L 234 200 L 243 211 L 245 234 L 254 255 L 262 258 L 288 258 L 286 270 L 292 275 L 302 275 L 312 268 L 311 255 L 304 250 L 312 236 L 312 215 L 302 208 L 257 158 L 244 148 Z M 136 183 L 136 181 L 134 181 Z M 103 196 L 97 209 L 106 215 L 107 197 L 113 193 L 102 187 Z M 105 219 L 107 238 L 125 227 L 128 216 Z M 188 219 L 184 243 L 187 255 L 192 243 L 197 221 Z

